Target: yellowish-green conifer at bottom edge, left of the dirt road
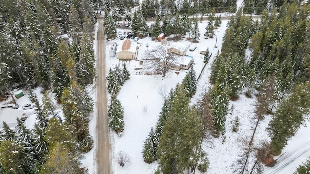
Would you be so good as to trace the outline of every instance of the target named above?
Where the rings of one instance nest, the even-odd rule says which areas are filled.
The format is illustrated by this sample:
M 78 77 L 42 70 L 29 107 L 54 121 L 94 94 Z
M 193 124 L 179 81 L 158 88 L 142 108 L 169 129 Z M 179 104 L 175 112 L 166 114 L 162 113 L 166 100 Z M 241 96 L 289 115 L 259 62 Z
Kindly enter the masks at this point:
M 84 169 L 79 167 L 81 165 L 80 158 L 80 156 L 72 154 L 60 142 L 55 142 L 55 146 L 51 150 L 47 162 L 42 166 L 40 174 L 84 174 Z

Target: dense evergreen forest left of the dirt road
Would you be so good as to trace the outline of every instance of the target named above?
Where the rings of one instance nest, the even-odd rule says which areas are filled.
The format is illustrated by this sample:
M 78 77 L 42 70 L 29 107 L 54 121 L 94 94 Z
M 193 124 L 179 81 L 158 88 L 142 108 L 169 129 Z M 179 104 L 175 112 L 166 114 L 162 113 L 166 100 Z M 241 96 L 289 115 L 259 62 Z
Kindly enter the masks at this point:
M 3 123 L 1 173 L 77 173 L 82 153 L 93 148 L 89 115 L 93 101 L 85 86 L 96 71 L 92 32 L 96 17 L 88 0 L 3 0 L 0 4 L 0 88 L 14 84 L 44 92 L 33 129 Z M 62 39 L 68 34 L 72 40 Z M 2 90 L 1 90 L 2 92 Z M 62 104 L 64 120 L 48 92 Z M 2 95 L 4 95 L 2 93 Z

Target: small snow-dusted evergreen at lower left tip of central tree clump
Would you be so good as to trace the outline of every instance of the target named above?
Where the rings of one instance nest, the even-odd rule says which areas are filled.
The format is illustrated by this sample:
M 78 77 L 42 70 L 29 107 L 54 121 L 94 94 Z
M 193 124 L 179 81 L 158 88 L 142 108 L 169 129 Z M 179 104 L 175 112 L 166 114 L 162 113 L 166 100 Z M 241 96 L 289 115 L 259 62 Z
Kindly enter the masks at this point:
M 155 132 L 153 130 L 153 127 L 151 127 L 151 131 L 149 132 L 149 135 L 143 145 L 142 153 L 144 162 L 150 164 L 157 160 L 157 146 L 158 142 L 156 140 Z

